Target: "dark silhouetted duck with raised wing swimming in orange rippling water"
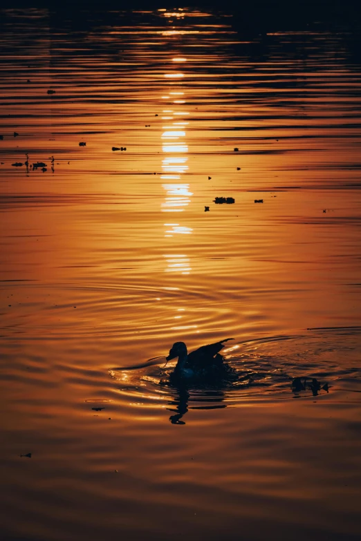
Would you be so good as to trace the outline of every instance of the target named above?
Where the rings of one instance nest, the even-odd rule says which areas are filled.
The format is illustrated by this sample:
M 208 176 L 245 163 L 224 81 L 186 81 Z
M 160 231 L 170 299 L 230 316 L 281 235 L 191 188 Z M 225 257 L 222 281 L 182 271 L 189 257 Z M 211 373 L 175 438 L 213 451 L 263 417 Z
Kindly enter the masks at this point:
M 216 343 L 202 345 L 201 348 L 189 354 L 184 342 L 175 342 L 169 350 L 169 355 L 165 357 L 167 362 L 178 357 L 171 379 L 206 379 L 207 377 L 217 377 L 222 374 L 226 365 L 223 365 L 224 358 L 219 352 L 224 348 L 224 343 L 229 340 L 233 339 L 226 338 Z

